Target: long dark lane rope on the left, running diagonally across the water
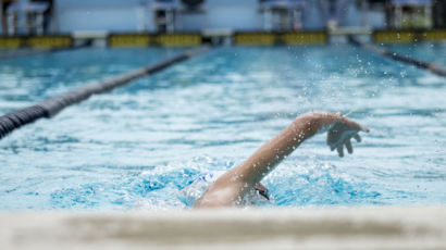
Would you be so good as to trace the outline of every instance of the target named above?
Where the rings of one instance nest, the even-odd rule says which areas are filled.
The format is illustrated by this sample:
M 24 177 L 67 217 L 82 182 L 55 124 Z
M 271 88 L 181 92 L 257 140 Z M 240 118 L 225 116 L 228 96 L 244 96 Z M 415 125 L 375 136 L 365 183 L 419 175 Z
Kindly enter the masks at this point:
M 161 61 L 153 65 L 140 67 L 132 72 L 123 73 L 111 78 L 96 82 L 65 92 L 61 96 L 47 99 L 35 105 L 4 114 L 0 116 L 0 139 L 12 133 L 14 129 L 33 123 L 39 118 L 50 118 L 66 107 L 84 101 L 92 95 L 108 92 L 114 88 L 126 85 L 134 79 L 160 72 L 173 64 L 201 54 L 208 50 L 209 47 L 200 47 L 198 49 L 188 50 L 174 58 Z

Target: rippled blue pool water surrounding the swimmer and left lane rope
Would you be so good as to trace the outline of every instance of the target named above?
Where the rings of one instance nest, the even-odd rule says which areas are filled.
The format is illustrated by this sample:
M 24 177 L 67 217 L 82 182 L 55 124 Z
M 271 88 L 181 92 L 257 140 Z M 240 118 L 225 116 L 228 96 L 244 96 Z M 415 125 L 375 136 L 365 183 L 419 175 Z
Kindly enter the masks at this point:
M 446 50 L 441 50 L 445 54 Z M 178 51 L 66 51 L 0 62 L 0 113 Z M 181 189 L 310 110 L 369 126 L 324 135 L 263 183 L 271 207 L 446 203 L 446 79 L 350 46 L 218 48 L 0 141 L 0 210 L 187 208 Z

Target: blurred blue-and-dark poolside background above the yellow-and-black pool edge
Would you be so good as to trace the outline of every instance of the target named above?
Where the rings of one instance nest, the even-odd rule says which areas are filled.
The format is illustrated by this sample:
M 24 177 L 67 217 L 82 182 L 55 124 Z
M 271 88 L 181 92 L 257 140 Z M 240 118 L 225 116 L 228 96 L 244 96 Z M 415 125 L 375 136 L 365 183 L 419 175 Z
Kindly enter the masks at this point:
M 444 28 L 444 0 L 1 0 L 1 34 Z

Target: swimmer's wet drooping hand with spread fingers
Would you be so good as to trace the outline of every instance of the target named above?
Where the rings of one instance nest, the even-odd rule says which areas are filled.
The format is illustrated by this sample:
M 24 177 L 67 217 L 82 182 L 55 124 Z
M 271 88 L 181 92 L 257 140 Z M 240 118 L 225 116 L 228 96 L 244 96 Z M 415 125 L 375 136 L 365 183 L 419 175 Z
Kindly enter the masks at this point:
M 352 120 L 347 118 L 340 113 L 332 115 L 335 116 L 335 120 L 330 126 L 326 143 L 330 146 L 332 151 L 336 149 L 337 153 L 342 158 L 344 157 L 344 146 L 347 148 L 348 153 L 352 153 L 354 148 L 351 147 L 351 138 L 355 138 L 358 142 L 360 142 L 361 137 L 358 133 L 369 133 L 370 129 L 361 126 Z

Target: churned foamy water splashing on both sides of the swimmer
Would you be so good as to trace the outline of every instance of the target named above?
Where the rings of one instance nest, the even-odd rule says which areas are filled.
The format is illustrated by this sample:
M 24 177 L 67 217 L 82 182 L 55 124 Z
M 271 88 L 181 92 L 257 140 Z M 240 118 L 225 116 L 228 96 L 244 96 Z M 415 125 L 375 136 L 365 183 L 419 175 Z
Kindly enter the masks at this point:
M 190 208 L 209 187 L 209 184 L 197 180 L 215 173 L 215 168 L 222 165 L 225 163 L 201 157 L 186 164 L 153 166 L 107 183 L 58 189 L 51 193 L 52 208 L 103 209 L 102 199 L 109 200 L 111 205 L 135 210 Z M 270 202 L 257 202 L 261 207 L 374 203 L 373 200 L 380 196 L 366 183 L 358 183 L 347 173 L 327 164 L 286 164 L 262 183 L 270 188 L 272 196 Z

